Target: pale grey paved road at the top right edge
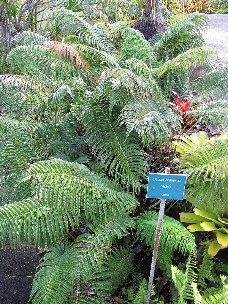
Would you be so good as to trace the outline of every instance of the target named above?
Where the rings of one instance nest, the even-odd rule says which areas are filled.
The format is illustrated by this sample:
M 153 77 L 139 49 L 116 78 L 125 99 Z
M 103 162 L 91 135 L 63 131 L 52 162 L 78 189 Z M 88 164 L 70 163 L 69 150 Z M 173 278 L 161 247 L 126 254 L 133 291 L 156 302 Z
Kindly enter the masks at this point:
M 228 14 L 208 16 L 210 26 L 205 36 L 206 45 L 218 51 L 216 65 L 228 67 Z

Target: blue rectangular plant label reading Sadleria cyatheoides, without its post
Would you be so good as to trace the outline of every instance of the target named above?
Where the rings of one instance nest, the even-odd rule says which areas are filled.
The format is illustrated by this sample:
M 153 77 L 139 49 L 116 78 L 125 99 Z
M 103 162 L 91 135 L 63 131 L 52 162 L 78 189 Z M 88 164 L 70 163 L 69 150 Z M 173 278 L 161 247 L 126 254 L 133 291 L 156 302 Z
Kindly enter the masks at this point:
M 149 173 L 147 198 L 183 199 L 186 174 Z

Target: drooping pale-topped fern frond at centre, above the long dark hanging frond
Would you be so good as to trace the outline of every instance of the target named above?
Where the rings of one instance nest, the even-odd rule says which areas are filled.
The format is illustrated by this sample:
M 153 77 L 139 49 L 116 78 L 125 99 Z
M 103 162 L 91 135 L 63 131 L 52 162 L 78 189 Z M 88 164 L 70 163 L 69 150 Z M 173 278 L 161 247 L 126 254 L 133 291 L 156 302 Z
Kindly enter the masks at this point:
M 114 105 L 123 107 L 130 98 L 152 97 L 153 88 L 147 79 L 127 69 L 109 68 L 101 74 L 95 96 L 99 100 L 109 100 L 111 112 Z

